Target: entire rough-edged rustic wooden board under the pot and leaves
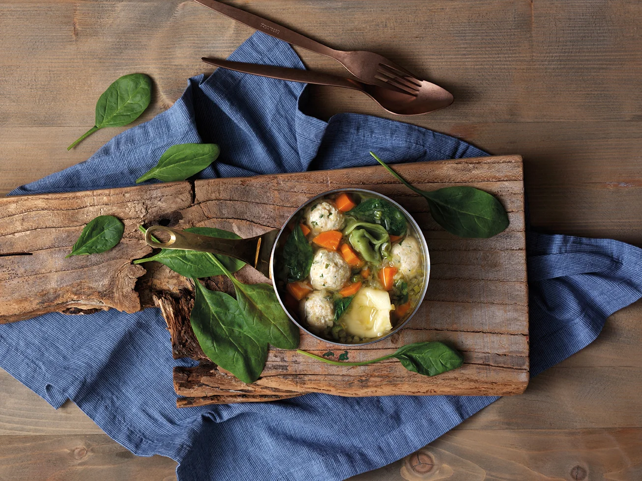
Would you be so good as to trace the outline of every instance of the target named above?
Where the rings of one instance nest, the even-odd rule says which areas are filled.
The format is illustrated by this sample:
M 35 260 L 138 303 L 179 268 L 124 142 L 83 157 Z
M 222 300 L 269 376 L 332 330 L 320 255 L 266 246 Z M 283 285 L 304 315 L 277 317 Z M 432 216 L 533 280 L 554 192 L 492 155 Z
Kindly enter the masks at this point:
M 521 157 L 422 162 L 395 169 L 421 189 L 465 184 L 491 192 L 507 209 L 510 226 L 490 239 L 454 237 L 433 221 L 421 196 L 379 166 L 1 198 L 0 323 L 46 312 L 160 307 L 174 357 L 201 361 L 198 367 L 175 369 L 176 392 L 184 396 L 179 406 L 275 400 L 306 392 L 523 392 L 528 384 L 528 289 Z M 340 187 L 375 190 L 399 201 L 422 226 L 431 257 L 428 293 L 412 321 L 385 341 L 348 349 L 349 360 L 379 357 L 408 342 L 446 341 L 464 354 L 460 369 L 429 378 L 406 371 L 395 360 L 343 368 L 270 349 L 261 378 L 243 384 L 209 362 L 198 347 L 189 326 L 193 286 L 160 264 L 131 263 L 152 253 L 139 224 L 216 226 L 249 237 L 280 228 L 304 201 Z M 107 253 L 65 259 L 82 226 L 103 214 L 123 220 L 123 241 Z M 267 282 L 250 267 L 237 275 L 245 282 Z M 210 289 L 230 291 L 223 278 L 207 283 Z M 302 333 L 301 349 L 332 351 L 337 359 L 345 351 L 337 347 Z

